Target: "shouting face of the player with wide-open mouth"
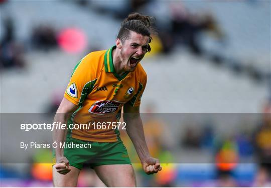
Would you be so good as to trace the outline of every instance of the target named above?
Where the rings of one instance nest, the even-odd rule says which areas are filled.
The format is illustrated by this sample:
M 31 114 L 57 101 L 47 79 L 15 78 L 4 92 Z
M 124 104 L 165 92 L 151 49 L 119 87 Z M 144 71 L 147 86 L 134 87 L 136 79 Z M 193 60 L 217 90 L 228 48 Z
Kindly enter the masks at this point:
M 120 60 L 124 70 L 127 72 L 134 71 L 147 52 L 149 37 L 130 31 L 128 39 L 123 43 L 120 40 L 118 42 L 117 47 L 121 48 Z

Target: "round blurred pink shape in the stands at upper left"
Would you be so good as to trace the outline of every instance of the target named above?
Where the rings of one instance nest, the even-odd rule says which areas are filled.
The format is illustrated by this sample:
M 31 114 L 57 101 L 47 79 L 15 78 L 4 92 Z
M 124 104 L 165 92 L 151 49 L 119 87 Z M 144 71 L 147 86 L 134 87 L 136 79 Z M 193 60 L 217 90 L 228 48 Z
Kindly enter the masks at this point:
M 77 28 L 62 30 L 57 37 L 57 42 L 61 49 L 68 53 L 81 52 L 87 45 L 86 35 Z

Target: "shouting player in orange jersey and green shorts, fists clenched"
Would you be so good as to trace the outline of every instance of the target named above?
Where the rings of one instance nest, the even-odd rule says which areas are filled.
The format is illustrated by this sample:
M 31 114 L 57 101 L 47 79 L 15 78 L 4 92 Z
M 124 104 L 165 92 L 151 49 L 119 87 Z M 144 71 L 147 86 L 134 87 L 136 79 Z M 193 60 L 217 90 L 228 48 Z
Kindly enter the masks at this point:
M 127 150 L 119 138 L 119 113 L 147 174 L 162 169 L 150 156 L 140 117 L 147 75 L 140 64 L 151 48 L 150 17 L 133 13 L 119 30 L 116 45 L 85 56 L 73 70 L 54 121 L 87 124 L 88 129 L 53 132 L 56 164 L 54 186 L 76 186 L 84 164 L 92 167 L 107 186 L 135 186 Z M 103 124 L 104 126 L 98 126 Z M 61 148 L 60 143 L 91 144 L 91 148 Z M 85 144 L 87 145 L 87 144 Z

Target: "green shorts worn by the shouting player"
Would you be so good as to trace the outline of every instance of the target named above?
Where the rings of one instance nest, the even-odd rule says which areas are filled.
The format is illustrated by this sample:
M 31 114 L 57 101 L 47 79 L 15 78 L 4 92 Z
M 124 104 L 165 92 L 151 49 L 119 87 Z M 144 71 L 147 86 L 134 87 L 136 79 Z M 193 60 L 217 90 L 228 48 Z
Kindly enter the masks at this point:
M 83 148 L 64 147 L 64 156 L 69 160 L 69 164 L 78 169 L 82 169 L 83 165 L 89 165 L 93 168 L 104 164 L 131 164 L 127 149 L 121 140 L 117 142 L 91 142 L 67 137 L 66 143 L 66 146 L 69 145 L 68 143 L 86 146 Z

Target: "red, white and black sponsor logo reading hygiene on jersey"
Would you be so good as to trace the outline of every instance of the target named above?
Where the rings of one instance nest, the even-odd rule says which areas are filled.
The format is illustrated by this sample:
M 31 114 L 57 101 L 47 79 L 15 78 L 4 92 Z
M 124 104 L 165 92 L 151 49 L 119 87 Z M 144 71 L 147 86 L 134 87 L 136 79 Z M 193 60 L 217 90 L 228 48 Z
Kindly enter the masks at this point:
M 101 100 L 96 101 L 88 110 L 88 112 L 93 114 L 108 114 L 108 113 L 115 113 L 120 107 L 122 102 L 118 101 L 110 101 L 110 100 Z

